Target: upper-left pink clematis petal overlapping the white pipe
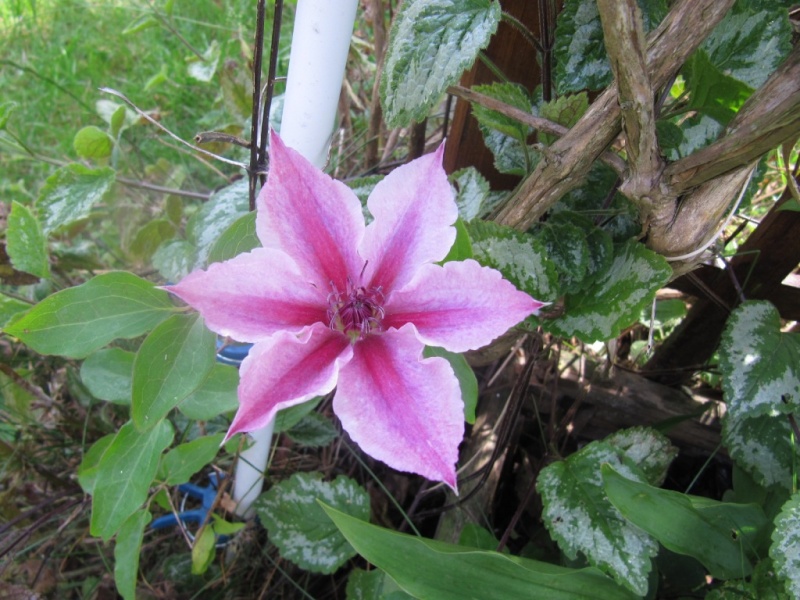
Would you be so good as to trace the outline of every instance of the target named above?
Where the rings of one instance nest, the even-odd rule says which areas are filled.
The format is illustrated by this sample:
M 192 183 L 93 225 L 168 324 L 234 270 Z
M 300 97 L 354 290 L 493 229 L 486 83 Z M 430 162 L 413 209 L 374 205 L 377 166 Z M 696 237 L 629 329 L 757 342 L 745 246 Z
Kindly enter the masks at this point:
M 267 248 L 279 248 L 297 263 L 303 276 L 330 292 L 344 289 L 349 274 L 364 261 L 356 249 L 364 235 L 361 203 L 299 153 L 270 135 L 267 184 L 258 195 L 256 233 Z

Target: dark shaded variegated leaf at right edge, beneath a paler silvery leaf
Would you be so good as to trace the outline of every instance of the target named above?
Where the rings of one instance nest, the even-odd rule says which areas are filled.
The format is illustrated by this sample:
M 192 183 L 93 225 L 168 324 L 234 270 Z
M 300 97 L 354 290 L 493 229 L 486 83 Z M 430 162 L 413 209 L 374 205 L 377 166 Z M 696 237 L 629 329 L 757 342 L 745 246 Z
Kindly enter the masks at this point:
M 727 413 L 722 421 L 722 441 L 731 458 L 758 483 L 792 489 L 800 447 L 785 416 Z

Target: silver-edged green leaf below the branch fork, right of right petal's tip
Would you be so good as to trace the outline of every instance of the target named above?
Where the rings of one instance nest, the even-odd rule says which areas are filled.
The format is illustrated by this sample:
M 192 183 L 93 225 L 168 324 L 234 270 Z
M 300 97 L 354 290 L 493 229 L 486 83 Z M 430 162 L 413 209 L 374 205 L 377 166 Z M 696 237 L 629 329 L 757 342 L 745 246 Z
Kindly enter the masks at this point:
M 568 295 L 564 314 L 547 326 L 558 335 L 589 343 L 614 338 L 638 319 L 671 274 L 669 264 L 642 244 L 621 244 L 609 267 L 588 288 Z

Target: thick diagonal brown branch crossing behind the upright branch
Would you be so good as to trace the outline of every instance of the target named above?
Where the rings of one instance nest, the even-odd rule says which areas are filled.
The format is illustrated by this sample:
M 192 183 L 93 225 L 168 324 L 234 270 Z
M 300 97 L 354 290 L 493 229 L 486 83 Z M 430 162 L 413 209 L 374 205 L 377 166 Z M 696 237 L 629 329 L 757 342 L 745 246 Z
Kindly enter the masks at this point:
M 703 42 L 734 0 L 679 0 L 648 36 L 647 68 L 653 88 L 666 85 Z M 514 195 L 494 215 L 505 225 L 527 229 L 564 194 L 578 187 L 592 163 L 620 131 L 617 92 L 607 88 L 584 116 L 550 147 Z

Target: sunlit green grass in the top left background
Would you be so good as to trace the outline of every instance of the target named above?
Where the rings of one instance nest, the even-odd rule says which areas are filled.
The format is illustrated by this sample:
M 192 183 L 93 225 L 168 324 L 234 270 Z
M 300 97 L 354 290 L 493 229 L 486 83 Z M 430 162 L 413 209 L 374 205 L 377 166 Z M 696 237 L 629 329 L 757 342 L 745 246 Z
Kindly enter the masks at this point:
M 76 160 L 74 134 L 83 126 L 106 124 L 96 102 L 116 100 L 98 91 L 111 87 L 184 139 L 230 123 L 241 115 L 226 110 L 220 93 L 222 66 L 249 78 L 254 6 L 246 0 L 0 0 L 0 105 L 16 103 L 0 133 L 0 191 L 4 200 L 29 202 L 53 166 L 31 160 L 13 137 L 38 155 Z M 125 33 L 139 20 L 151 26 Z M 188 74 L 195 53 L 221 47 L 220 68 L 204 83 Z M 231 62 L 232 61 L 232 62 Z M 154 77 L 159 82 L 152 83 Z M 151 82 L 148 86 L 148 82 Z M 164 145 L 152 125 L 124 134 L 120 171 L 140 177 L 159 158 L 183 165 L 185 187 L 208 189 L 218 175 L 194 158 Z M 173 142 L 169 142 L 172 144 Z M 235 168 L 217 165 L 230 175 Z

